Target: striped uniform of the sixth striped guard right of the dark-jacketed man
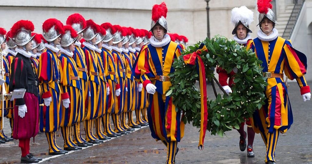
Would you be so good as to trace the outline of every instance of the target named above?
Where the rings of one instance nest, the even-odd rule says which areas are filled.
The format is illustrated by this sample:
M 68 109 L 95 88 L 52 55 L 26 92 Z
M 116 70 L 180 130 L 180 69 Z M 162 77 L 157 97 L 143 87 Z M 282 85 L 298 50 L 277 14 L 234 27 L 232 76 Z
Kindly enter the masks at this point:
M 110 115 L 115 113 L 115 89 L 119 89 L 118 86 L 116 88 L 118 74 L 116 74 L 116 64 L 117 60 L 115 54 L 112 54 L 111 47 L 102 47 L 101 48 L 103 53 L 107 56 L 107 63 L 108 63 L 108 76 L 106 76 L 106 81 L 110 87 L 110 94 L 108 95 L 107 101 L 107 112 L 104 114 L 102 119 L 102 123 L 104 126 L 104 134 L 114 134 L 114 130 L 112 130 L 110 126 Z M 104 55 L 105 56 L 105 55 Z

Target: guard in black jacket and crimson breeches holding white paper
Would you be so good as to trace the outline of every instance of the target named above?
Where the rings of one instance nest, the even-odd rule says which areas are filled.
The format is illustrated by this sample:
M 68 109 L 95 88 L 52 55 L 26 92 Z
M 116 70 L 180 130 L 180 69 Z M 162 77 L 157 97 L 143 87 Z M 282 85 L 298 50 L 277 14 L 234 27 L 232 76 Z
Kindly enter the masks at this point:
M 39 82 L 34 63 L 30 59 L 32 55 L 29 53 L 32 51 L 33 30 L 31 21 L 20 20 L 12 26 L 9 36 L 17 45 L 17 54 L 12 61 L 9 91 L 26 89 L 24 97 L 15 99 L 14 104 L 13 138 L 19 140 L 21 163 L 38 163 L 42 160 L 29 152 L 30 138 L 35 137 L 39 131 Z

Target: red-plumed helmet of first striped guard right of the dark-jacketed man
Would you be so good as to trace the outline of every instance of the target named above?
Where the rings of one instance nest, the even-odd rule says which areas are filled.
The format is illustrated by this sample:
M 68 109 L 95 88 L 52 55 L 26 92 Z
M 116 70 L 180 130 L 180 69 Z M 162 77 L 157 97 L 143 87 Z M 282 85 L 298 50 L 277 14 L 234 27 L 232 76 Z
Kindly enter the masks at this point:
M 52 42 L 64 33 L 63 23 L 55 18 L 47 19 L 42 24 L 42 31 L 44 39 L 46 39 L 47 42 Z

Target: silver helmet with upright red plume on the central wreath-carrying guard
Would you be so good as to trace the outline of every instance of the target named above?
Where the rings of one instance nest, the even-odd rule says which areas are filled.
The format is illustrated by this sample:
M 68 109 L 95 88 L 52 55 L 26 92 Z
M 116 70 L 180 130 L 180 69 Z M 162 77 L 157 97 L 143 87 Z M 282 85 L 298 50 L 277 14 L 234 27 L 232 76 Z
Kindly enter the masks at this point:
M 162 2 L 160 5 L 155 4 L 152 8 L 152 22 L 151 22 L 151 29 L 152 31 L 153 27 L 158 23 L 160 26 L 165 28 L 168 32 L 168 25 L 167 25 L 167 6 L 165 2 Z

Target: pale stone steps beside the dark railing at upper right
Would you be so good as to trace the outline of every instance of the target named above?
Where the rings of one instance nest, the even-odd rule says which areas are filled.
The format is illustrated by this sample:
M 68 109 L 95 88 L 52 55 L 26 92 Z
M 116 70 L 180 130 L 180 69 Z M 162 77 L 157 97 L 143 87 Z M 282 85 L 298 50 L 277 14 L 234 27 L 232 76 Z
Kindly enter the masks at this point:
M 285 7 L 285 10 L 281 9 L 279 15 L 277 16 L 276 21 L 278 22 L 278 25 L 275 25 L 275 28 L 277 29 L 280 37 L 282 37 L 284 34 L 285 28 L 287 26 L 288 20 L 294 7 L 295 4 L 288 4 Z

